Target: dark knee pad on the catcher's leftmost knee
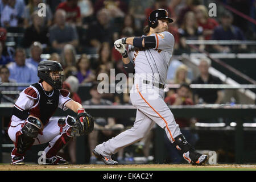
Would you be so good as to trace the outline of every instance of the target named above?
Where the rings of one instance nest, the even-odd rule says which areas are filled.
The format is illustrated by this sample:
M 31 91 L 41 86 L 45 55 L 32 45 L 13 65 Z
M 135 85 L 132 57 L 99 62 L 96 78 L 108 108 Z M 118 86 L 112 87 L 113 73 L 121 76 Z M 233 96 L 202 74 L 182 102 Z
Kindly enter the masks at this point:
M 28 138 L 36 138 L 40 129 L 42 129 L 41 122 L 36 118 L 28 117 L 27 122 L 22 128 L 22 133 Z

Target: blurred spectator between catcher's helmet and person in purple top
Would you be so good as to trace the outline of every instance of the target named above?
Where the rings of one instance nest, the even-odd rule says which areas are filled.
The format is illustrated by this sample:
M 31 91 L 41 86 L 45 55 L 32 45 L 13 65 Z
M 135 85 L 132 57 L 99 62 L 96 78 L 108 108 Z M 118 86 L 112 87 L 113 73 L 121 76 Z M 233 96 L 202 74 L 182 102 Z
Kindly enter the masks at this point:
M 64 77 L 67 78 L 70 75 L 77 75 L 76 69 L 76 49 L 71 44 L 66 44 L 61 53 L 61 60 L 63 63 Z

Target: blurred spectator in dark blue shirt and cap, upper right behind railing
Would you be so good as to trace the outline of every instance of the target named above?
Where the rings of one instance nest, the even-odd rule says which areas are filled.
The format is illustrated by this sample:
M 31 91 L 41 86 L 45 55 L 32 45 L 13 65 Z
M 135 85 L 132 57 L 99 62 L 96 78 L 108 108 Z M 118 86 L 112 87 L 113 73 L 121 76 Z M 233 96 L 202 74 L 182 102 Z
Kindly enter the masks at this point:
M 245 40 L 245 36 L 240 28 L 233 26 L 233 15 L 228 11 L 221 14 L 221 25 L 214 28 L 213 40 Z M 236 49 L 236 46 L 214 45 L 213 48 L 218 52 L 231 52 Z M 246 49 L 246 45 L 238 46 L 238 49 Z

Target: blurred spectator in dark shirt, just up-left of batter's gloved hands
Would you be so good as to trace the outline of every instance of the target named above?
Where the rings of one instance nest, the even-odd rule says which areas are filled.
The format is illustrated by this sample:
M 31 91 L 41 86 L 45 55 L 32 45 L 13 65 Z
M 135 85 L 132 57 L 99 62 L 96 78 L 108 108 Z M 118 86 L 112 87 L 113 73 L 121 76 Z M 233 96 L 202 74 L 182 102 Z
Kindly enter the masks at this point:
M 97 21 L 93 22 L 88 28 L 89 45 L 98 50 L 101 43 L 113 43 L 113 29 L 110 23 L 110 12 L 107 9 L 102 9 L 97 13 Z

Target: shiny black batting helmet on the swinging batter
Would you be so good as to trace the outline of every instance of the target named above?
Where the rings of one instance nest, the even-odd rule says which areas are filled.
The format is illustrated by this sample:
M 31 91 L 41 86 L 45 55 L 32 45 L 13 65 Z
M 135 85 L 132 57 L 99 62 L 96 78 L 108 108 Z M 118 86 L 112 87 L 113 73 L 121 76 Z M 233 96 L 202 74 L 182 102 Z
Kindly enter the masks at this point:
M 150 16 L 148 17 L 148 25 L 152 28 L 157 27 L 158 19 L 168 19 L 169 23 L 174 22 L 173 19 L 169 18 L 168 11 L 166 11 L 164 9 L 158 9 L 158 10 L 154 10 L 150 13 Z

